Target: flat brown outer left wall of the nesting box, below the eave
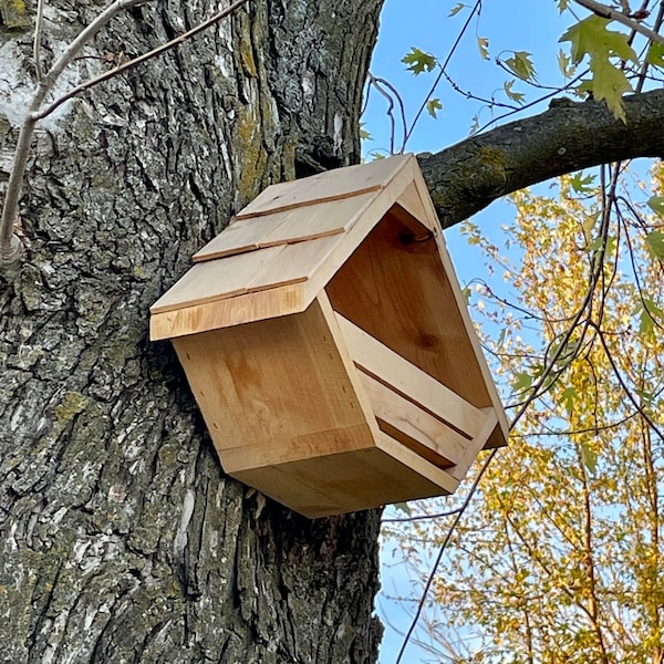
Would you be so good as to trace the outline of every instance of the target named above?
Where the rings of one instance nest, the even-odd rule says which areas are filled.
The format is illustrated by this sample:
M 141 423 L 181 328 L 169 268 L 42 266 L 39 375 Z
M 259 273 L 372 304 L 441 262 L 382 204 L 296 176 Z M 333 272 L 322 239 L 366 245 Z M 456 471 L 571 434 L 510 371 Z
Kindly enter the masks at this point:
M 367 414 L 318 303 L 301 314 L 183 336 L 174 345 L 217 449 L 286 443 L 284 450 L 300 458 L 308 454 L 307 436 L 362 426 L 364 445 L 373 445 Z M 291 440 L 299 449 L 288 447 Z M 312 449 L 317 445 L 311 442 Z M 347 445 L 361 446 L 356 437 Z

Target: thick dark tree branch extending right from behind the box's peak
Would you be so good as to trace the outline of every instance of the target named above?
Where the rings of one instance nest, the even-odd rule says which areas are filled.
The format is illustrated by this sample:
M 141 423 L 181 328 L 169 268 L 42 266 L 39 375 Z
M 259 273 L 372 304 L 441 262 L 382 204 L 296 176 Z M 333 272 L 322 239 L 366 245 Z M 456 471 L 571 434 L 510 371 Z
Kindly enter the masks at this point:
M 553 100 L 544 113 L 418 155 L 444 228 L 536 183 L 635 157 L 664 156 L 664 90 L 625 97 L 626 123 L 603 102 Z

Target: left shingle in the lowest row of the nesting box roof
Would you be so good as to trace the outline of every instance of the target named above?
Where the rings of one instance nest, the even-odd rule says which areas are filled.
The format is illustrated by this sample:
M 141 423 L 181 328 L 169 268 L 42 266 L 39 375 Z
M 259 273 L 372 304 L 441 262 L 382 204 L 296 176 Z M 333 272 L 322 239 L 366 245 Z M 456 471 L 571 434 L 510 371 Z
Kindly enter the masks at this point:
M 164 313 L 245 293 L 262 267 L 282 250 L 270 247 L 197 263 L 151 307 L 151 312 Z

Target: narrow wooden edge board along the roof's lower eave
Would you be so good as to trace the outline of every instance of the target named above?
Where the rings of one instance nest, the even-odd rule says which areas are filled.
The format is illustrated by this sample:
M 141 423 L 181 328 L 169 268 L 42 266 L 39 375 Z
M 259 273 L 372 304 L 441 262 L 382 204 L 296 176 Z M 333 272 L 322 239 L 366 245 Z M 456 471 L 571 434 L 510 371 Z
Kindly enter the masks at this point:
M 174 339 L 298 313 L 303 309 L 302 284 L 289 284 L 153 314 L 149 320 L 149 338 L 152 341 Z

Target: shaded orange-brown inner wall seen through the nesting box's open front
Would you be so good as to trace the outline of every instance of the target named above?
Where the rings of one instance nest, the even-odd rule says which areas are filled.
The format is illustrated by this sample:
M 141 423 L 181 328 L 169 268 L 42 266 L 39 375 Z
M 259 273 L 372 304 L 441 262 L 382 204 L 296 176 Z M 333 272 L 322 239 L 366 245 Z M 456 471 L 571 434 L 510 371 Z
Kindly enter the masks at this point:
M 328 284 L 332 305 L 475 407 L 492 406 L 436 238 L 404 243 L 408 232 L 387 214 Z

